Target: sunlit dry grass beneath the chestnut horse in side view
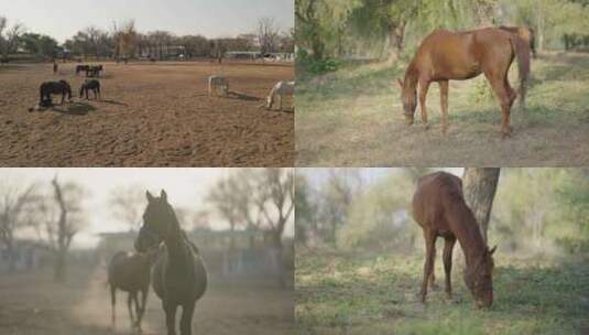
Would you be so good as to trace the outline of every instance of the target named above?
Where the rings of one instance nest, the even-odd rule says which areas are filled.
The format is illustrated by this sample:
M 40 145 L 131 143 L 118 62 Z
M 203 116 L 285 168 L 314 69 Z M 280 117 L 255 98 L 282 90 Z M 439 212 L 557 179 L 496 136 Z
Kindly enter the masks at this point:
M 510 82 L 515 86 L 517 72 L 512 67 Z M 440 129 L 437 85 L 428 94 L 430 129 L 418 121 L 405 126 L 396 84 L 403 73 L 403 64 L 369 64 L 320 77 L 299 76 L 297 165 L 589 164 L 589 149 L 579 145 L 589 141 L 589 55 L 554 54 L 533 61 L 527 110 L 514 108 L 514 133 L 508 140 L 500 137 L 500 108 L 486 94 L 483 76 L 450 82 L 447 136 Z

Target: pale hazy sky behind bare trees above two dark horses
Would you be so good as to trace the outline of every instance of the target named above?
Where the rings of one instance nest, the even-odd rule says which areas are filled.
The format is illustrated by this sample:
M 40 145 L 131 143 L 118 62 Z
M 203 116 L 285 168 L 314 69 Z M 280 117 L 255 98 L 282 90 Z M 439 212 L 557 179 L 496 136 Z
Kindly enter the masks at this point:
M 173 207 L 189 208 L 192 212 L 210 209 L 205 198 L 219 179 L 223 179 L 236 169 L 166 169 L 166 168 L 92 168 L 92 169 L 53 169 L 53 168 L 4 168 L 0 169 L 0 187 L 4 185 L 26 187 L 39 183 L 48 187 L 50 181 L 57 174 L 59 181 L 80 184 L 86 196 L 83 201 L 88 226 L 74 239 L 74 247 L 92 247 L 107 231 L 127 231 L 129 226 L 118 220 L 109 209 L 111 191 L 118 187 L 138 186 L 159 196 L 162 188 L 166 191 L 167 201 Z M 45 188 L 46 190 L 46 188 Z M 145 199 L 146 205 L 146 199 Z M 214 229 L 226 229 L 227 223 L 212 215 L 209 225 Z M 286 228 L 286 236 L 293 236 L 294 223 Z

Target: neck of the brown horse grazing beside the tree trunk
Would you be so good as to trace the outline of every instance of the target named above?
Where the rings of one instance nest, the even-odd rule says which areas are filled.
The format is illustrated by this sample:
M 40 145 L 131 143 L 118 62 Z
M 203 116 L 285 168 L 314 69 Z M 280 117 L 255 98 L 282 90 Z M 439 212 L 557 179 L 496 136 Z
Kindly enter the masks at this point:
M 463 201 L 450 201 L 446 210 L 446 219 L 452 234 L 458 239 L 467 266 L 475 262 L 476 259 L 486 250 L 486 244 L 472 212 Z

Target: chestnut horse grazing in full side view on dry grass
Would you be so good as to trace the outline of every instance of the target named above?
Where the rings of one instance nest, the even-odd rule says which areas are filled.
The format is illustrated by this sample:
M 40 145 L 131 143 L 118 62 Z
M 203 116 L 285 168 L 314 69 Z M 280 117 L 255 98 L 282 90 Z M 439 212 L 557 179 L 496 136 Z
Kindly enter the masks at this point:
M 435 30 L 417 48 L 404 79 L 399 79 L 407 125 L 413 125 L 419 84 L 422 121 L 426 129 L 428 128 L 425 100 L 429 84 L 437 82 L 441 97 L 441 132 L 445 134 L 448 129 L 448 80 L 466 80 L 484 73 L 502 108 L 502 137 L 509 137 L 511 107 L 517 96 L 508 80 L 508 72 L 514 57 L 520 65 L 520 104 L 524 108 L 530 74 L 528 43 L 519 35 L 498 28 L 466 32 Z

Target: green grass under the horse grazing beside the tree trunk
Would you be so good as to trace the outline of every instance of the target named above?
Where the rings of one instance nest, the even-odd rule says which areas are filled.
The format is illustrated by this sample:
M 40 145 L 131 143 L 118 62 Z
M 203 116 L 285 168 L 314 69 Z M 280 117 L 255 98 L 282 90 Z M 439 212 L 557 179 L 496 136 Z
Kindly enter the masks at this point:
M 494 304 L 475 309 L 455 266 L 444 290 L 418 302 L 422 256 L 296 255 L 299 334 L 587 334 L 589 263 L 495 257 Z M 437 283 L 443 284 L 436 259 Z

